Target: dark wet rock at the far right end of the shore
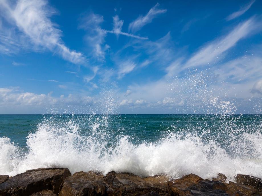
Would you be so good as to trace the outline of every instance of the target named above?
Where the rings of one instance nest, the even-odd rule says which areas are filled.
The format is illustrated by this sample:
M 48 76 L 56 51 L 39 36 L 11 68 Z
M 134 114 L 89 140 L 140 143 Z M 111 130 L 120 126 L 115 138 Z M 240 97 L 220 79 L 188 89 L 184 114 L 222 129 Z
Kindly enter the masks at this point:
M 238 184 L 248 185 L 254 187 L 255 189 L 262 190 L 262 179 L 260 178 L 238 174 L 235 180 Z

